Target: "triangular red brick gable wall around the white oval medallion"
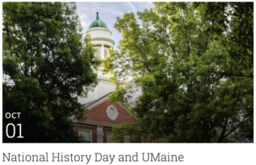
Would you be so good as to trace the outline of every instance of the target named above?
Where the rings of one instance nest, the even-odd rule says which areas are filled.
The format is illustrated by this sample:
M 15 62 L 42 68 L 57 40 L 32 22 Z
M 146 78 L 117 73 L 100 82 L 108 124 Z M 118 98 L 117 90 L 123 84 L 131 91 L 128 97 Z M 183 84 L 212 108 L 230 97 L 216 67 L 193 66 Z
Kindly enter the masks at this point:
M 107 107 L 109 105 L 114 105 L 115 108 L 118 110 L 118 117 L 111 121 L 110 118 L 107 117 Z M 132 123 L 136 122 L 136 119 L 133 118 L 121 105 L 119 105 L 117 102 L 114 103 L 108 103 L 107 101 L 103 102 L 102 104 L 94 107 L 93 109 L 90 109 L 88 113 L 85 114 L 88 121 L 94 121 L 94 122 L 107 122 L 111 124 L 121 124 L 121 123 Z

